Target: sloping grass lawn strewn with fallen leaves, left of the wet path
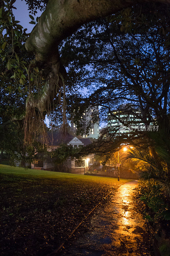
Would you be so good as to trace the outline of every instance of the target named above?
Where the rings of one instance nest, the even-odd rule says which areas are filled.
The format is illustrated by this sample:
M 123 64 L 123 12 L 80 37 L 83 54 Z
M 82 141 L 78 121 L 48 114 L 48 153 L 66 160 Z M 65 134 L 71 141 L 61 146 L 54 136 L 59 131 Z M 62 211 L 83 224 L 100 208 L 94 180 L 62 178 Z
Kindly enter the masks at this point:
M 2 164 L 0 175 L 2 256 L 47 255 L 97 203 L 105 203 L 108 192 L 127 181 Z

